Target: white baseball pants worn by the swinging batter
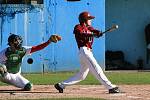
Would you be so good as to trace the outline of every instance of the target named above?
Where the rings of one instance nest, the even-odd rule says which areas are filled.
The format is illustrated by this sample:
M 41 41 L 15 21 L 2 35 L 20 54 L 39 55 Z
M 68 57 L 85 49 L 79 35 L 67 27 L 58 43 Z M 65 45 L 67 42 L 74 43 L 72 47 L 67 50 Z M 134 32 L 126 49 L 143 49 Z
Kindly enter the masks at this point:
M 107 79 L 105 74 L 103 73 L 102 68 L 99 66 L 95 58 L 93 57 L 92 51 L 87 47 L 80 47 L 79 50 L 79 58 L 81 68 L 80 71 L 75 74 L 73 77 L 59 83 L 61 88 L 65 88 L 66 86 L 76 84 L 86 78 L 88 72 L 90 71 L 107 89 L 112 89 L 116 87 L 111 84 L 111 82 Z

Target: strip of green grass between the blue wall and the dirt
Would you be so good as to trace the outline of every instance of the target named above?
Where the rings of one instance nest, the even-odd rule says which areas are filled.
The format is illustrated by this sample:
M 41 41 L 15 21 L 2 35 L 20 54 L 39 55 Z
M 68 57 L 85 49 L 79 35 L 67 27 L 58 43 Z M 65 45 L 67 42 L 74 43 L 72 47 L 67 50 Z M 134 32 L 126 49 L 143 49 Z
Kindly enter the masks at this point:
M 76 72 L 57 72 L 45 74 L 23 74 L 33 84 L 55 84 L 73 76 Z M 108 79 L 114 84 L 150 84 L 150 72 L 106 72 Z M 80 82 L 81 85 L 98 85 L 98 80 L 89 74 Z M 5 85 L 0 82 L 0 85 Z

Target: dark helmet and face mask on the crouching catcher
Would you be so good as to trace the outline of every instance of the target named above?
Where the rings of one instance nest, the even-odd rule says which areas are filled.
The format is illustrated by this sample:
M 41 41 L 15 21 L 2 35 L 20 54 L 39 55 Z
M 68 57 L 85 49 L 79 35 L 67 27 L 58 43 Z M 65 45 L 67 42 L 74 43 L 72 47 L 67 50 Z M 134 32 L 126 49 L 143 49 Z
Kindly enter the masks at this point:
M 22 46 L 23 40 L 21 36 L 11 33 L 11 35 L 8 37 L 8 45 L 10 46 L 11 43 L 14 44 L 16 48 L 20 48 Z

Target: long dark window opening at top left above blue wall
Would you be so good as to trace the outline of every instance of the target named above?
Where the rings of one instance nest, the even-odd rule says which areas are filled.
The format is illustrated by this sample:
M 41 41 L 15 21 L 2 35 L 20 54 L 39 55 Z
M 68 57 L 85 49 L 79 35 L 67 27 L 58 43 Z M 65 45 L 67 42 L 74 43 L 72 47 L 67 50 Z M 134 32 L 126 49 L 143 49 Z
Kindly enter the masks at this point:
M 0 4 L 43 4 L 43 0 L 0 0 Z

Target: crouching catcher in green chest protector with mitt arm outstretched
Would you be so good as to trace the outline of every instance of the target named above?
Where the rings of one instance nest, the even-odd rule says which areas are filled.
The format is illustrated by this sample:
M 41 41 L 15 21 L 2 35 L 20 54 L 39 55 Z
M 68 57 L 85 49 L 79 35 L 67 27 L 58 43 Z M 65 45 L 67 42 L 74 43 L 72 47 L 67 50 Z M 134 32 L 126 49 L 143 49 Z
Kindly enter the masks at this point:
M 14 85 L 25 91 L 32 89 L 32 84 L 21 75 L 21 63 L 25 55 L 44 49 L 51 42 L 58 42 L 61 37 L 51 35 L 49 40 L 37 46 L 22 46 L 21 36 L 11 34 L 8 38 L 9 47 L 0 52 L 0 81 Z

